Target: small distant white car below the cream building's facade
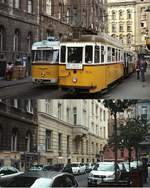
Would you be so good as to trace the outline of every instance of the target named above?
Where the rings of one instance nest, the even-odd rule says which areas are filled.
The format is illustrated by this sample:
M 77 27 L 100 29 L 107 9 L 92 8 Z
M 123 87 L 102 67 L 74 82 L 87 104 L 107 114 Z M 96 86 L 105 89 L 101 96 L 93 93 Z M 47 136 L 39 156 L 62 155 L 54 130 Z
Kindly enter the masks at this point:
M 80 162 L 72 162 L 71 163 L 72 172 L 74 175 L 84 174 L 86 166 Z

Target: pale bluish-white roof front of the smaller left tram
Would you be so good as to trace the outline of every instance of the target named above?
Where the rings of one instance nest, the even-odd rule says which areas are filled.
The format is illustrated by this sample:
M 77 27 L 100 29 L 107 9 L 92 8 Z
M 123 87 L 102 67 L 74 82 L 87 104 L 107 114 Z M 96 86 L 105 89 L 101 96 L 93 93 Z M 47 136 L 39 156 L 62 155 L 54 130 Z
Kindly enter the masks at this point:
M 32 50 L 38 50 L 38 49 L 59 49 L 60 47 L 60 41 L 49 41 L 49 40 L 42 40 L 39 42 L 35 42 L 32 45 Z

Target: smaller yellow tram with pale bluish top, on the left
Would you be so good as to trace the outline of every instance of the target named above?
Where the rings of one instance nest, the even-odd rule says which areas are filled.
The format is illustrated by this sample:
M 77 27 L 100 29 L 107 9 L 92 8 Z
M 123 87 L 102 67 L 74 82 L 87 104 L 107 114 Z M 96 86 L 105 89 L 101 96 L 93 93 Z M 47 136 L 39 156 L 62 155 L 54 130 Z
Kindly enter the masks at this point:
M 32 45 L 32 80 L 39 85 L 57 85 L 60 42 L 54 37 Z

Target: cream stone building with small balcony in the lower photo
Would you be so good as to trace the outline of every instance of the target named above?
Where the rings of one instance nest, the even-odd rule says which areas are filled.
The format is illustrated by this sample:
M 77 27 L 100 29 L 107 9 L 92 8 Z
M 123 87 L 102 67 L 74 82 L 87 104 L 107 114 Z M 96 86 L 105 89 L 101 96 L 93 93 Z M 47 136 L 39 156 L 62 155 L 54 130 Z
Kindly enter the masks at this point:
M 40 162 L 96 162 L 108 138 L 107 109 L 97 100 L 38 100 Z

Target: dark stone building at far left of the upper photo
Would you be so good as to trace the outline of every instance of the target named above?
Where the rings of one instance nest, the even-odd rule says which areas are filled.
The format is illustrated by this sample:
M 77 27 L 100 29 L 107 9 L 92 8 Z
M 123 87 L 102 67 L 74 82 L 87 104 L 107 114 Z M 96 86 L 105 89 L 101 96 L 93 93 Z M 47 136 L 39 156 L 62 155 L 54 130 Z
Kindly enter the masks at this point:
M 6 63 L 26 64 L 30 74 L 31 45 L 38 39 L 39 0 L 0 0 L 0 78 Z

